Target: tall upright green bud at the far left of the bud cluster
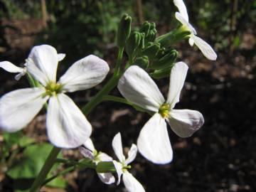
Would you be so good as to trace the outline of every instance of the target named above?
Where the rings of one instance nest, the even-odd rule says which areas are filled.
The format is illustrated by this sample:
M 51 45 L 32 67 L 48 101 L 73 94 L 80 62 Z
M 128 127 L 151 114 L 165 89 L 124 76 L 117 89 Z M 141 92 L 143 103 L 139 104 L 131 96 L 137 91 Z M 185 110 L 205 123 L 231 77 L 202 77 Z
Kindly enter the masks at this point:
M 121 21 L 117 30 L 117 46 L 123 48 L 129 35 L 131 33 L 131 23 L 132 17 L 128 14 L 124 14 L 121 18 Z

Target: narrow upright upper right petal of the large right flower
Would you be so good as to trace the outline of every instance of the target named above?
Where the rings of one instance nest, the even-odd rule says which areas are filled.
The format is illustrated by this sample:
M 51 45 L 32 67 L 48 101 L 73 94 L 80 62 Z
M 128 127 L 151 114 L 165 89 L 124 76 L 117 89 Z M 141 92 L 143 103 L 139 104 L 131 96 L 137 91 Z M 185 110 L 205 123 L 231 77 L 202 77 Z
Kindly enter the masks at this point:
M 173 109 L 179 101 L 187 72 L 188 65 L 183 62 L 175 63 L 174 67 L 171 68 L 169 92 L 166 101 L 171 104 L 171 109 Z

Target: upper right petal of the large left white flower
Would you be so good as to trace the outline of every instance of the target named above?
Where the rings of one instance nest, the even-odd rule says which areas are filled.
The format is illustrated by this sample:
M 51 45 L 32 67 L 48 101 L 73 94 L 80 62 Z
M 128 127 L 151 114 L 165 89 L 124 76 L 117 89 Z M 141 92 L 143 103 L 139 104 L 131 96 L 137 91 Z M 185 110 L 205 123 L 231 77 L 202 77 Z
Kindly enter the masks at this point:
M 102 82 L 109 70 L 105 60 L 89 55 L 75 62 L 60 78 L 60 84 L 66 92 L 87 90 Z

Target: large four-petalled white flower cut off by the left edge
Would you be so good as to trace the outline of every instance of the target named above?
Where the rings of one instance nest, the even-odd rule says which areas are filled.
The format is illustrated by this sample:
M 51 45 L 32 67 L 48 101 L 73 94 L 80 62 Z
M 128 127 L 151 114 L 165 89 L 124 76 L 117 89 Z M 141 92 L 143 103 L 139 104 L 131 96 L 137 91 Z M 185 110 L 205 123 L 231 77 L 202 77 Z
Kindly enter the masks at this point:
M 46 128 L 50 142 L 61 148 L 75 148 L 90 137 L 92 127 L 65 92 L 97 85 L 110 68 L 104 60 L 89 55 L 75 62 L 56 82 L 58 60 L 60 55 L 52 46 L 33 47 L 26 68 L 42 87 L 14 90 L 1 97 L 0 127 L 7 132 L 26 127 L 49 100 Z

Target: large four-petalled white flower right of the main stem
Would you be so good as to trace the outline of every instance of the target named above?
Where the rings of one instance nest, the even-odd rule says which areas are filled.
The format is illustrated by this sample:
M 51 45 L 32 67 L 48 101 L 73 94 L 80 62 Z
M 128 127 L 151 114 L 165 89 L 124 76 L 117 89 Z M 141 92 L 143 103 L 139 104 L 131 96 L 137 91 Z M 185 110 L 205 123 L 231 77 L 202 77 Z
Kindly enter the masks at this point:
M 167 100 L 149 75 L 136 65 L 128 68 L 119 80 L 118 89 L 129 102 L 154 112 L 142 128 L 137 145 L 139 152 L 155 164 L 167 164 L 173 158 L 166 122 L 179 137 L 190 137 L 203 125 L 200 112 L 174 110 L 187 70 L 188 66 L 183 62 L 176 63 L 171 69 Z

